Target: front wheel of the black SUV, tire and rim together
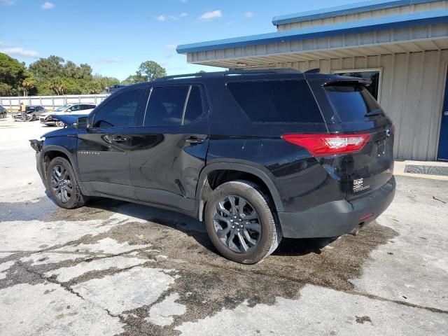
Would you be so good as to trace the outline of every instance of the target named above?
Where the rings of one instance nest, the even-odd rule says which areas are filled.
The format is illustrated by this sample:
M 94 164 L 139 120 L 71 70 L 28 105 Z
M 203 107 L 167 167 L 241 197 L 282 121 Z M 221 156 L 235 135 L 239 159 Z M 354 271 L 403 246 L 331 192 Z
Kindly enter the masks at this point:
M 62 173 L 64 177 L 64 181 L 69 181 L 69 183 L 65 183 L 65 186 L 70 186 L 69 190 L 71 190 L 69 193 L 63 193 L 64 190 L 62 190 L 60 193 L 58 193 L 61 188 L 64 187 L 64 183 L 57 185 L 56 179 L 53 179 L 52 173 L 53 170 L 59 170 L 59 167 L 64 169 L 64 172 Z M 61 169 L 62 171 L 62 169 Z M 50 191 L 50 194 L 53 197 L 53 200 L 55 200 L 56 204 L 64 209 L 75 209 L 79 207 L 83 207 L 85 204 L 86 198 L 81 193 L 78 182 L 76 181 L 75 174 L 73 172 L 73 168 L 70 165 L 70 162 L 67 161 L 64 158 L 54 158 L 51 160 L 50 165 L 48 165 L 48 169 L 46 172 L 47 175 L 47 188 Z M 57 185 L 57 187 L 55 187 Z M 65 189 L 67 191 L 68 189 Z M 68 197 L 68 200 L 66 199 Z

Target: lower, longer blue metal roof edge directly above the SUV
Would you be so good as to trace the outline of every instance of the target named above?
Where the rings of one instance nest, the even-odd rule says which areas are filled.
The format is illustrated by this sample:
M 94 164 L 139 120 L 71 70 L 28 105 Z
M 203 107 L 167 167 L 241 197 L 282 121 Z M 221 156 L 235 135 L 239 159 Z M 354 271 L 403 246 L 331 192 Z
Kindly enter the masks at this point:
M 287 31 L 276 31 L 274 33 L 260 35 L 225 38 L 217 41 L 184 44 L 178 45 L 176 51 L 179 54 L 185 54 L 187 52 L 221 50 L 227 48 L 247 47 L 250 45 L 309 40 L 312 38 L 342 36 L 347 34 L 361 34 L 371 31 L 416 27 L 421 25 L 435 25 L 438 23 L 448 23 L 447 9 L 388 16 L 385 18 L 375 18 L 370 20 L 344 22 L 337 25 L 308 27 Z

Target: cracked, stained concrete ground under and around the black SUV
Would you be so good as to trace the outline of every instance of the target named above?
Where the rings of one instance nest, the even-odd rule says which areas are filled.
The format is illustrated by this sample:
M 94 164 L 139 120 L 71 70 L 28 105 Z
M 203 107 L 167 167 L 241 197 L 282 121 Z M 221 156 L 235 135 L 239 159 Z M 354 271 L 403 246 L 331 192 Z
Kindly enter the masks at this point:
M 0 123 L 14 127 L 0 134 L 0 335 L 448 333 L 448 206 L 433 199 L 447 181 L 400 176 L 395 202 L 357 237 L 284 239 L 238 265 L 187 216 L 55 207 L 27 141 L 46 127 Z

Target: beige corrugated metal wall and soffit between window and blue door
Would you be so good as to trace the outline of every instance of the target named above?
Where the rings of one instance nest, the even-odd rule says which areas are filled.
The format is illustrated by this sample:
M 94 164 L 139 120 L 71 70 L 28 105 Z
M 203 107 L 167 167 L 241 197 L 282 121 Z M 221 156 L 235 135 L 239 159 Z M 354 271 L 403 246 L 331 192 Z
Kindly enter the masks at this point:
M 295 62 L 301 71 L 381 68 L 381 106 L 395 123 L 395 158 L 437 158 L 448 50 Z M 276 64 L 290 67 L 291 63 Z M 447 141 L 445 139 L 444 141 Z

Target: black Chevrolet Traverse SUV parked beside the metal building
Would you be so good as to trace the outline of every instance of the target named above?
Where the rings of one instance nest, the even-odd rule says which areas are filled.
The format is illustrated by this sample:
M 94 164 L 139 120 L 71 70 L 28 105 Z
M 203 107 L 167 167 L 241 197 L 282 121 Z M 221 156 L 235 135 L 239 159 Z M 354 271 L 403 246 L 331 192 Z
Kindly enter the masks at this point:
M 393 124 L 360 78 L 292 69 L 169 76 L 31 141 L 59 207 L 90 196 L 204 221 L 225 257 L 356 232 L 392 202 Z

